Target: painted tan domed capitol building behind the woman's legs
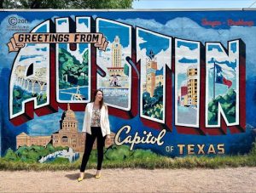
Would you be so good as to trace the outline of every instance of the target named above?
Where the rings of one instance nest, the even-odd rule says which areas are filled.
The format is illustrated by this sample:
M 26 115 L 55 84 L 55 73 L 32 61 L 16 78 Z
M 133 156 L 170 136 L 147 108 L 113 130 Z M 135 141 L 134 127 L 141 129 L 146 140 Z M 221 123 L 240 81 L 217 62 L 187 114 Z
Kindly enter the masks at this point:
M 49 136 L 29 136 L 26 133 L 20 133 L 16 137 L 16 148 L 20 146 L 41 145 L 46 146 L 51 143 L 54 147 L 70 147 L 77 152 L 84 152 L 85 133 L 79 132 L 78 121 L 74 111 L 67 105 L 67 111 L 64 111 L 60 121 L 61 128 L 58 132 Z M 105 147 L 108 148 L 114 144 L 115 133 L 110 134 L 110 139 L 105 140 Z M 96 149 L 96 141 L 93 150 Z

